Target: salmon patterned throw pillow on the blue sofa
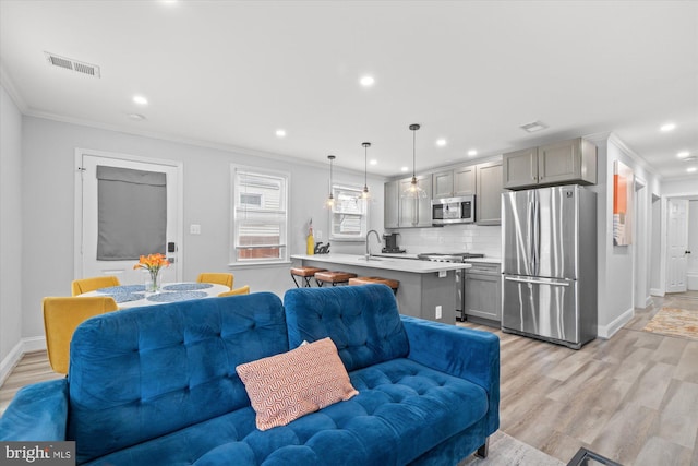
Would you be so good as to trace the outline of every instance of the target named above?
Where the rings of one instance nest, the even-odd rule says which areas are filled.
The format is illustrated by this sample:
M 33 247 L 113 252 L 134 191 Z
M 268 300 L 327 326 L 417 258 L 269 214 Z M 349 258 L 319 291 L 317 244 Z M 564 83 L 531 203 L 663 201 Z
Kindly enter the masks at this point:
M 257 414 L 260 430 L 286 426 L 359 393 L 330 338 L 246 362 L 236 370 Z

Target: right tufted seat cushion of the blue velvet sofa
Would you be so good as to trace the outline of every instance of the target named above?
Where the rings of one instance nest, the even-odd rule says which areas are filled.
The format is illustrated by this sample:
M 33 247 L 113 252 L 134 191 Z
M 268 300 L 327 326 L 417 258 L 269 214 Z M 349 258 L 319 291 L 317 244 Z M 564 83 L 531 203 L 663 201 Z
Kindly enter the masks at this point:
M 483 419 L 484 390 L 394 359 L 350 373 L 359 395 L 267 431 L 237 438 L 195 462 L 236 465 L 404 465 Z

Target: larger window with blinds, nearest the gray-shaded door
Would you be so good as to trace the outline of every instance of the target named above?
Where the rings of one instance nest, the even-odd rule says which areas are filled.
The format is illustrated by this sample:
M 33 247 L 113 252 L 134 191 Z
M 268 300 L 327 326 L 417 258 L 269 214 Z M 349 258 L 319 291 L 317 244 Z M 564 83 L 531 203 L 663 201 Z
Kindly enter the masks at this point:
M 232 167 L 233 263 L 288 260 L 288 175 Z

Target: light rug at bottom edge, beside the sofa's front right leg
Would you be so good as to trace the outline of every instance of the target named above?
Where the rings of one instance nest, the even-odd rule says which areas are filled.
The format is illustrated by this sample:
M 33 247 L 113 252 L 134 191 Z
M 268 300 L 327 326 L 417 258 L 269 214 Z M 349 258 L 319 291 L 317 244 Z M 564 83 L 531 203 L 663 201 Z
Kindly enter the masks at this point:
M 564 466 L 554 458 L 531 445 L 497 430 L 490 435 L 490 453 L 482 459 L 474 455 L 458 463 L 458 466 Z

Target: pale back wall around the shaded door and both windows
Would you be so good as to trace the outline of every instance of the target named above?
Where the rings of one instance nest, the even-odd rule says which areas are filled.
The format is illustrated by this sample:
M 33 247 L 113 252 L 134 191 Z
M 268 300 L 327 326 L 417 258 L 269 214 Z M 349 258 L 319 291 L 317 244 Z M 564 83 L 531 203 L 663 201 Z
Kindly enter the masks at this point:
M 4 140 L 4 138 L 3 138 Z M 230 164 L 272 168 L 290 172 L 290 252 L 304 253 L 308 220 L 323 230 L 326 242 L 329 228 L 323 202 L 328 194 L 329 167 L 325 156 L 317 165 L 290 157 L 245 154 L 144 138 L 92 127 L 34 117 L 23 120 L 24 208 L 22 226 L 24 270 L 22 280 L 22 335 L 44 335 L 41 298 L 67 296 L 73 279 L 73 202 L 75 148 L 89 148 L 148 158 L 183 163 L 184 238 L 183 278 L 192 280 L 200 272 L 228 271 L 230 234 Z M 335 181 L 363 186 L 363 172 L 342 171 L 337 157 Z M 370 225 L 383 225 L 383 178 L 370 177 L 369 189 L 375 195 Z M 3 183 L 4 189 L 4 183 Z M 19 194 L 19 188 L 15 190 Z M 4 224 L 4 222 L 3 222 Z M 19 218 L 15 224 L 19 224 Z M 198 224 L 202 234 L 189 235 L 189 225 Z M 361 243 L 333 243 L 336 252 L 361 252 Z M 4 255 L 3 261 L 4 263 Z M 19 261 L 17 261 L 19 262 Z M 15 266 L 15 265 L 13 265 Z M 282 296 L 293 285 L 289 264 L 237 267 L 231 272 L 236 286 L 250 285 L 253 291 L 268 290 Z M 14 272 L 16 273 L 16 272 Z M 4 277 L 3 277 L 4 283 Z M 19 307 L 14 312 L 20 312 Z

